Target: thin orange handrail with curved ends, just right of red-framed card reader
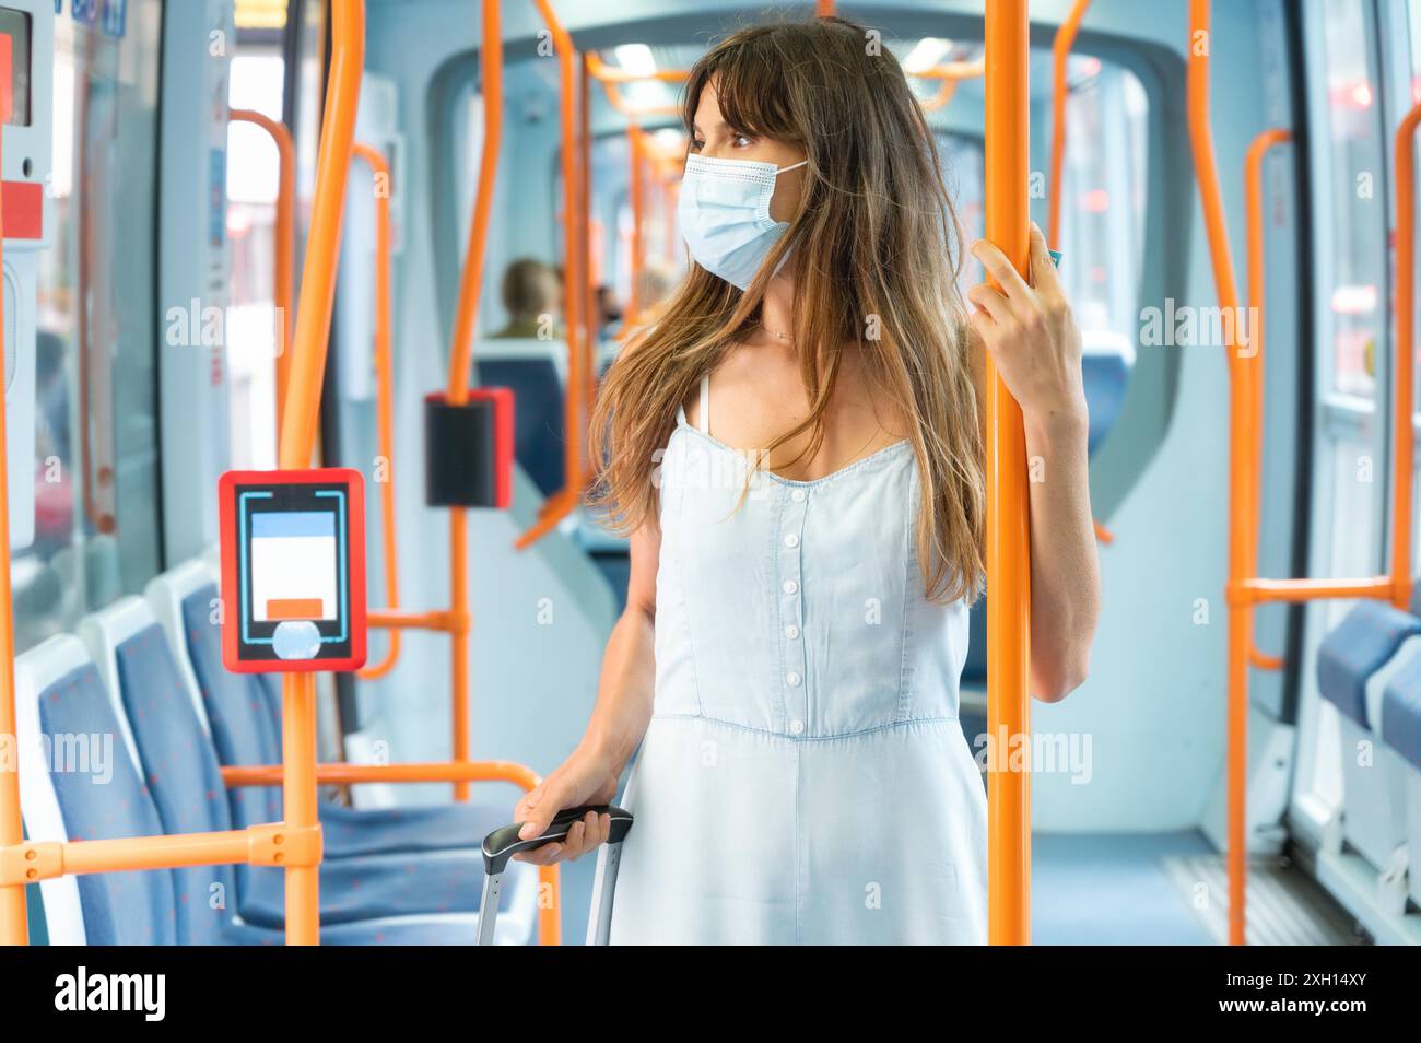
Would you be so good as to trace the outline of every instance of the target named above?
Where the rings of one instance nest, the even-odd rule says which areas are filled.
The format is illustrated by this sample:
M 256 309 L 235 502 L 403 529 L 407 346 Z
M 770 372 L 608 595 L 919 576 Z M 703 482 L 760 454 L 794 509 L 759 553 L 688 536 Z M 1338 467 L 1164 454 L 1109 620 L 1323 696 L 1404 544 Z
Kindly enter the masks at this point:
M 399 608 L 399 556 L 395 540 L 395 364 L 389 306 L 389 162 L 379 149 L 355 142 L 352 155 L 364 159 L 375 179 L 375 439 L 385 466 L 379 483 L 381 536 L 385 550 L 385 602 Z M 399 629 L 389 631 L 385 658 L 357 671 L 361 681 L 375 681 L 399 659 Z

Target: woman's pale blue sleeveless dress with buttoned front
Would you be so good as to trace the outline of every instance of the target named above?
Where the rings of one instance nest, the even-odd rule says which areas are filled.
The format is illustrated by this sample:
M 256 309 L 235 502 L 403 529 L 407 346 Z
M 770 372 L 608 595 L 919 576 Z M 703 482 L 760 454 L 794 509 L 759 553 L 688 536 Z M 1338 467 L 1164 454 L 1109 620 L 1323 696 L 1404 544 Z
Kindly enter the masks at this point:
M 746 489 L 706 381 L 678 414 L 611 944 L 985 944 L 968 608 L 925 597 L 911 443 Z

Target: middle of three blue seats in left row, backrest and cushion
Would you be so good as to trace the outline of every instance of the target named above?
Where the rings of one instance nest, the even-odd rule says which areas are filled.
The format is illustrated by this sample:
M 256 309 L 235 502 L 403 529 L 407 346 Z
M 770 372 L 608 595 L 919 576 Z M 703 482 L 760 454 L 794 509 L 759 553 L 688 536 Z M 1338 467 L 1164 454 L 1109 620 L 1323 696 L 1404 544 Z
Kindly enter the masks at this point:
M 114 716 L 144 769 L 158 817 L 168 833 L 233 828 L 230 803 L 212 739 L 152 610 L 128 597 L 87 617 L 80 637 L 107 682 Z M 512 882 L 499 926 L 529 941 L 536 919 L 536 872 Z M 244 921 L 280 928 L 284 922 L 283 872 L 270 867 L 193 867 L 173 871 L 179 939 L 215 944 L 225 914 L 206 901 L 213 887 L 230 895 Z M 482 897 L 476 851 L 333 858 L 321 864 L 321 921 L 341 924 L 399 915 L 476 914 Z M 522 929 L 522 935 L 517 931 Z

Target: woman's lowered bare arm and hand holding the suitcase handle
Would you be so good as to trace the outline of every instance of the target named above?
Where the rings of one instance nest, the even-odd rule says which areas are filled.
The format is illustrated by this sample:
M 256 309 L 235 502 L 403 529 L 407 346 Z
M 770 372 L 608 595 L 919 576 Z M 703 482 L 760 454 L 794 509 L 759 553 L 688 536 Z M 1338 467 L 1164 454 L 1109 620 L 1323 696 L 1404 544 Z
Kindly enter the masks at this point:
M 659 529 L 648 524 L 632 534 L 627 608 L 607 639 L 591 719 L 571 756 L 519 801 L 514 818 L 526 823 L 524 837 L 546 830 L 566 807 L 605 804 L 617 796 L 617 779 L 651 722 L 659 557 Z M 605 843 L 610 827 L 607 816 L 598 820 L 588 813 L 561 844 L 546 844 L 514 858 L 539 865 L 576 860 Z

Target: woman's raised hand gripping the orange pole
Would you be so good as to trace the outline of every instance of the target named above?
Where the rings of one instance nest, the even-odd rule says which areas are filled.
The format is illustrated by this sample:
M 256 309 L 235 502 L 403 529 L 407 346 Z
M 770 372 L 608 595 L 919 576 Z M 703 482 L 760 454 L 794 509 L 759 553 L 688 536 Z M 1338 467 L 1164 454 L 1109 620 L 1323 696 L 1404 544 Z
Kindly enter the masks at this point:
M 972 328 L 992 352 L 1023 416 L 1043 425 L 1088 422 L 1080 330 L 1046 249 L 1046 236 L 1032 225 L 1030 286 L 1006 254 L 985 239 L 973 243 L 972 256 L 998 283 L 968 290 L 968 300 L 976 306 Z

